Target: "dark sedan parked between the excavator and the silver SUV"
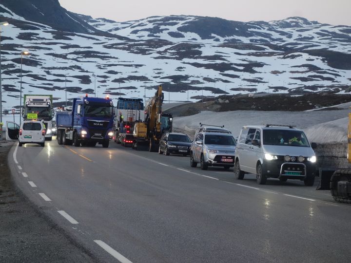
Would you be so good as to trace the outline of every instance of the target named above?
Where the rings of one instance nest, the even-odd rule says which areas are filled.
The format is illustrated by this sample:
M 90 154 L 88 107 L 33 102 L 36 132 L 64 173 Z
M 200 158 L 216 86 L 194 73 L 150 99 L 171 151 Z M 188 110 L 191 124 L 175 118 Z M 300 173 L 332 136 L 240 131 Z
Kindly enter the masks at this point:
M 159 142 L 158 153 L 190 155 L 191 140 L 184 133 L 165 132 Z

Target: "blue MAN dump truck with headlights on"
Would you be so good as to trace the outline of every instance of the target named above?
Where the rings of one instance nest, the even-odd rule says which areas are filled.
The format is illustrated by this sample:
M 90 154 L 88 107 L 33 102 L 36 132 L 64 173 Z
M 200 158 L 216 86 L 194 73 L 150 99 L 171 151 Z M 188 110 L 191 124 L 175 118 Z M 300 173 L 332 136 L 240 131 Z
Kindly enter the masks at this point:
M 72 112 L 57 112 L 57 141 L 61 145 L 107 148 L 113 138 L 114 106 L 109 97 L 78 97 L 73 100 Z

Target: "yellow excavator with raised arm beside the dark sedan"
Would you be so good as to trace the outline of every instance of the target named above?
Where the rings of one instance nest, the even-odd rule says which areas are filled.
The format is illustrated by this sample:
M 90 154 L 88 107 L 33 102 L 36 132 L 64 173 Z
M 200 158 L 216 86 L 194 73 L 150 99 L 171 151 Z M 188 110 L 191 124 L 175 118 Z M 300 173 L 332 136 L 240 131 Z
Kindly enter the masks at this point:
M 162 113 L 162 86 L 159 85 L 145 109 L 145 121 L 134 125 L 133 149 L 148 146 L 149 151 L 157 151 L 159 140 L 166 131 L 172 131 L 172 114 Z

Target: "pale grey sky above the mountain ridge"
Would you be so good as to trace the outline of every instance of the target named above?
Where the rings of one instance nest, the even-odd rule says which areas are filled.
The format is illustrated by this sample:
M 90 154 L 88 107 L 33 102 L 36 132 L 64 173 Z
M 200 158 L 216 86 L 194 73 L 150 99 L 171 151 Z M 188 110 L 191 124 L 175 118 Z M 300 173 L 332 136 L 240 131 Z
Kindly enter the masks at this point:
M 299 16 L 351 26 L 351 0 L 59 0 L 62 7 L 115 21 L 151 16 L 196 15 L 237 21 L 280 20 Z

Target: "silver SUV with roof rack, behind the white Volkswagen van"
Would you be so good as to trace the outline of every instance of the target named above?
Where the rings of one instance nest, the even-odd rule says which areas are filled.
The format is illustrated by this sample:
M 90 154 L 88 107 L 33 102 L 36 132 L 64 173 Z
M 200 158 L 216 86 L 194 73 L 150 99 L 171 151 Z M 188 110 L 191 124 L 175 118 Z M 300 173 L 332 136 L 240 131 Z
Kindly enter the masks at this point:
M 203 170 L 209 166 L 222 166 L 224 169 L 234 166 L 236 141 L 231 132 L 225 130 L 197 132 L 190 149 L 191 167 L 198 163 Z

